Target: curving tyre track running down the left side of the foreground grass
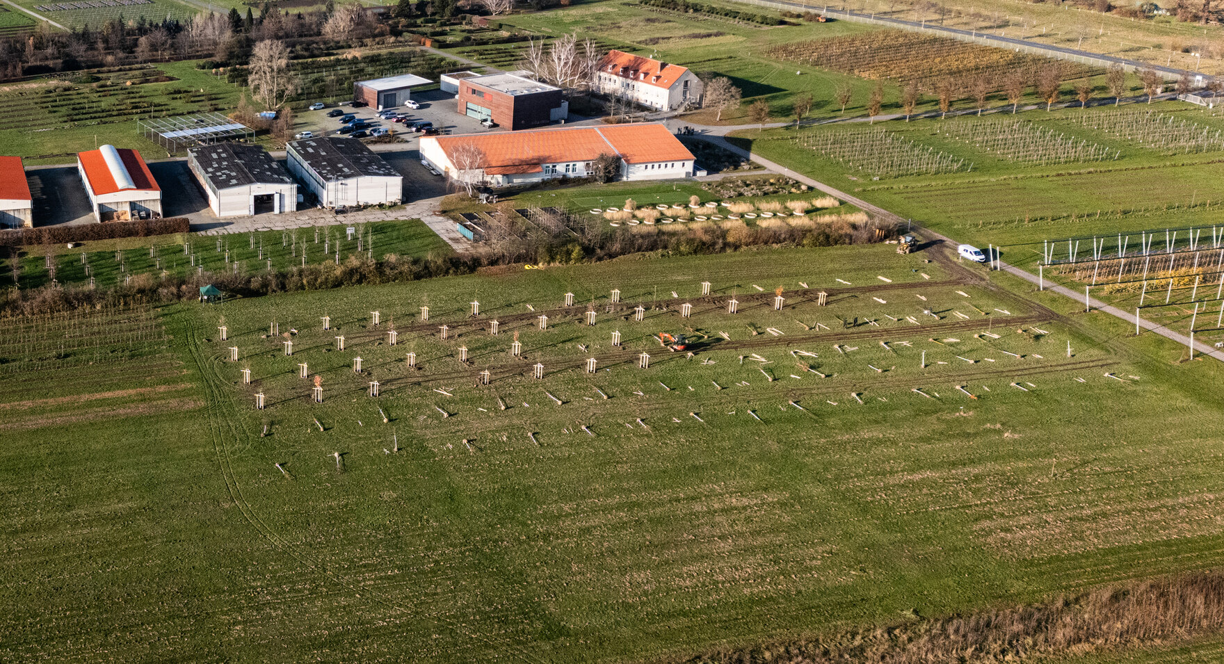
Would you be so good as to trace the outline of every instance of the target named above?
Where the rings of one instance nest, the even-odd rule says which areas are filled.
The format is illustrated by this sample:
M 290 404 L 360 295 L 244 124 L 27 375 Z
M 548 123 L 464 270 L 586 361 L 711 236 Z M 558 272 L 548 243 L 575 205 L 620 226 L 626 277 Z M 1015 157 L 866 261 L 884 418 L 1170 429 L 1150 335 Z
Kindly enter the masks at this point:
M 481 636 L 479 633 L 472 633 L 461 630 L 454 621 L 442 618 L 431 616 L 415 613 L 411 608 L 398 603 L 394 598 L 379 592 L 372 586 L 361 586 L 353 581 L 349 581 L 344 576 L 332 572 L 327 569 L 326 563 L 311 554 L 306 549 L 294 545 L 291 542 L 278 534 L 263 518 L 255 511 L 251 504 L 246 500 L 242 494 L 242 487 L 239 484 L 237 474 L 234 472 L 233 460 L 230 457 L 230 449 L 226 445 L 226 438 L 233 440 L 241 440 L 248 435 L 245 430 L 239 430 L 235 424 L 239 421 L 239 415 L 236 408 L 233 407 L 233 400 L 224 391 L 223 380 L 213 371 L 213 364 L 215 364 L 215 358 L 206 357 L 200 344 L 196 328 L 190 322 L 181 322 L 184 326 L 184 338 L 186 339 L 187 346 L 191 352 L 192 360 L 200 368 L 201 382 L 206 391 L 207 402 L 207 418 L 211 438 L 213 439 L 213 450 L 217 454 L 217 462 L 222 471 L 222 478 L 225 482 L 225 492 L 237 505 L 239 511 L 242 517 L 246 518 L 255 531 L 268 540 L 277 549 L 289 554 L 295 560 L 301 563 L 304 566 L 311 569 L 319 576 L 323 576 L 340 586 L 348 588 L 355 596 L 364 597 L 361 593 L 367 593 L 373 600 L 383 604 L 384 607 L 394 610 L 395 613 L 405 614 L 410 618 L 417 620 L 426 620 L 433 625 L 450 631 L 458 637 L 466 637 L 480 641 L 491 648 L 491 653 L 497 653 L 498 651 L 514 651 L 514 655 L 519 660 L 534 662 L 537 664 L 545 664 L 542 659 L 539 659 L 535 654 L 526 652 L 521 646 L 515 646 L 514 643 L 494 643 L 490 638 Z M 225 411 L 225 412 L 222 412 Z M 496 658 L 496 654 L 488 655 Z

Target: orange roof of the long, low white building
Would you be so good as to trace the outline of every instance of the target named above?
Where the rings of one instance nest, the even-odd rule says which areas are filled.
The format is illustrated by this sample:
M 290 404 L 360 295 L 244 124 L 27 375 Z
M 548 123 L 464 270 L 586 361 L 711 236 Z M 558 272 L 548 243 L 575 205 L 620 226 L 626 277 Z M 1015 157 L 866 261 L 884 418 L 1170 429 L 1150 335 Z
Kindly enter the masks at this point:
M 427 137 L 448 157 L 452 149 L 474 143 L 485 153 L 485 172 L 510 175 L 539 172 L 543 164 L 592 161 L 603 153 L 617 154 L 627 164 L 687 161 L 690 153 L 662 125 L 612 125 L 536 131 Z

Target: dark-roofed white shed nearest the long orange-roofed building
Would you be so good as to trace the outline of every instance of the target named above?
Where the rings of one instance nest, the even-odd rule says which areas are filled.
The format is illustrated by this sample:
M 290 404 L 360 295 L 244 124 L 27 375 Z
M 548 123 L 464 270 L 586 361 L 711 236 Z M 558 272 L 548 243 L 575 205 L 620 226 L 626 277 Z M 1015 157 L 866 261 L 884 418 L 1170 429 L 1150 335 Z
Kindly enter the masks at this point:
M 356 138 L 307 138 L 285 146 L 294 174 L 324 208 L 399 203 L 404 176 Z

